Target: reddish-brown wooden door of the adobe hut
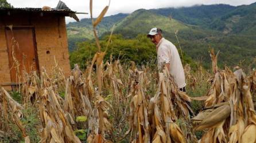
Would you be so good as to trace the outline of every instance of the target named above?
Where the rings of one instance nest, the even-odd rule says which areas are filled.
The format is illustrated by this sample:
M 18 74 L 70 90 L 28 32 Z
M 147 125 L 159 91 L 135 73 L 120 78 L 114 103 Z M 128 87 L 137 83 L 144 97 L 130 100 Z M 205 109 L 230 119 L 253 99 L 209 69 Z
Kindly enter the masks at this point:
M 22 82 L 23 70 L 38 71 L 36 42 L 33 28 L 6 28 L 11 82 Z M 20 81 L 18 79 L 21 79 Z

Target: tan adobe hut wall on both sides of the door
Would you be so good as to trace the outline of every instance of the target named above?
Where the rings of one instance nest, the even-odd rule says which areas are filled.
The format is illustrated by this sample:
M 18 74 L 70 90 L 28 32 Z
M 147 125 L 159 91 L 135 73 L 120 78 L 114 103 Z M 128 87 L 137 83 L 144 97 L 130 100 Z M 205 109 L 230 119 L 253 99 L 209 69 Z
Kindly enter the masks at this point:
M 22 18 L 21 18 L 22 17 Z M 32 26 L 36 37 L 38 65 L 40 71 L 45 67 L 52 74 L 55 59 L 65 76 L 68 76 L 69 65 L 68 40 L 65 17 L 56 14 L 10 14 L 0 19 L 0 84 L 10 82 L 9 60 L 5 37 L 5 26 Z

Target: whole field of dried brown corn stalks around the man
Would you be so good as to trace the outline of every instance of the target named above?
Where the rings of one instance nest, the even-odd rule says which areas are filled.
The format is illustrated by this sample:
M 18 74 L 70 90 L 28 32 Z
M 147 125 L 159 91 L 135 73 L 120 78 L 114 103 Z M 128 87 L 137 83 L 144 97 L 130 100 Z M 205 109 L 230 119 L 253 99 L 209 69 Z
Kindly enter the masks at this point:
M 90 7 L 92 15 L 92 1 Z M 26 143 L 256 142 L 256 72 L 247 77 L 242 69 L 219 70 L 218 54 L 211 50 L 214 74 L 184 66 L 188 93 L 205 87 L 205 93 L 189 96 L 166 67 L 157 72 L 150 64 L 121 63 L 111 56 L 103 62 L 106 51 L 95 27 L 107 9 L 92 19 L 98 53 L 87 69 L 75 65 L 66 78 L 55 61 L 52 74 L 43 67 L 40 75 L 23 72 L 19 102 L 0 89 L 0 141 L 10 141 L 17 129 L 18 140 Z M 30 108 L 32 113 L 26 113 Z M 31 127 L 26 121 L 32 114 L 38 122 Z

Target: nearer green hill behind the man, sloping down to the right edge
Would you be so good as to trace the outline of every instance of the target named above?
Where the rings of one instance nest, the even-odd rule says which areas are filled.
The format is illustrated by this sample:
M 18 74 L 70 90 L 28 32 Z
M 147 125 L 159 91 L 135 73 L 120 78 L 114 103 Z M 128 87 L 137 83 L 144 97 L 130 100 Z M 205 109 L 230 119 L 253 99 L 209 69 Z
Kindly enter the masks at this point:
M 139 28 L 137 28 L 139 27 Z M 151 27 L 161 27 L 164 37 L 178 46 L 174 31 L 179 30 L 177 36 L 185 53 L 193 59 L 201 59 L 204 65 L 211 62 L 208 50 L 212 46 L 220 50 L 219 63 L 224 65 L 236 65 L 243 59 L 249 64 L 256 55 L 253 50 L 256 42 L 253 38 L 241 35 L 224 35 L 222 31 L 204 29 L 199 26 L 187 25 L 175 19 L 163 15 L 157 15 L 150 10 L 137 10 L 123 19 L 115 33 L 122 34 L 126 38 L 135 37 L 137 34 L 148 33 Z

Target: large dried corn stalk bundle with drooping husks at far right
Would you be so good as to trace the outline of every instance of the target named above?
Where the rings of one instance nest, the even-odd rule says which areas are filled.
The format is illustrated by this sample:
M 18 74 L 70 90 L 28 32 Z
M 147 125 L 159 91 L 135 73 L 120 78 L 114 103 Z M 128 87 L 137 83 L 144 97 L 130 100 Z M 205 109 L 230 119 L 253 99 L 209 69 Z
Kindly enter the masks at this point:
M 193 121 L 196 130 L 207 129 L 200 142 L 255 142 L 255 115 L 245 73 L 226 67 L 215 73 L 205 109 Z

